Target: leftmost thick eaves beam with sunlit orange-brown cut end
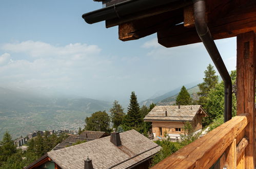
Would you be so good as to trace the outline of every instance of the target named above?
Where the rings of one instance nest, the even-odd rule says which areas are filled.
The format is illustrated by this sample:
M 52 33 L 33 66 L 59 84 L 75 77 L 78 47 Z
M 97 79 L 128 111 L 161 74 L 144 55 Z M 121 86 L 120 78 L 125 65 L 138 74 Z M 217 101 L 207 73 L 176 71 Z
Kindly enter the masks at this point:
M 119 39 L 122 41 L 139 39 L 156 33 L 163 28 L 182 22 L 182 9 L 134 20 L 132 22 L 119 25 Z

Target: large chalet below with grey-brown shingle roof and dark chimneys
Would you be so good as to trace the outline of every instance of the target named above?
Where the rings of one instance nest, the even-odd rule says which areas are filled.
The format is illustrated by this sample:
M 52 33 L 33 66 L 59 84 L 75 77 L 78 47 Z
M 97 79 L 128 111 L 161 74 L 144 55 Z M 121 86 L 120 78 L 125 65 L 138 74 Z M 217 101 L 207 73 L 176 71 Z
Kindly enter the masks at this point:
M 25 168 L 147 168 L 161 146 L 130 130 L 48 152 Z

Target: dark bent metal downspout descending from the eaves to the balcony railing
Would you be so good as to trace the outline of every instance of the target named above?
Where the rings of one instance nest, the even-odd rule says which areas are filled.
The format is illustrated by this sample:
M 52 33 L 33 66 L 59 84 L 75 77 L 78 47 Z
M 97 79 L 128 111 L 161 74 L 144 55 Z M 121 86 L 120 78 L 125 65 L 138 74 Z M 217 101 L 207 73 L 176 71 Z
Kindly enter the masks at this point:
M 232 82 L 205 20 L 205 1 L 193 0 L 195 28 L 225 85 L 224 121 L 232 118 Z

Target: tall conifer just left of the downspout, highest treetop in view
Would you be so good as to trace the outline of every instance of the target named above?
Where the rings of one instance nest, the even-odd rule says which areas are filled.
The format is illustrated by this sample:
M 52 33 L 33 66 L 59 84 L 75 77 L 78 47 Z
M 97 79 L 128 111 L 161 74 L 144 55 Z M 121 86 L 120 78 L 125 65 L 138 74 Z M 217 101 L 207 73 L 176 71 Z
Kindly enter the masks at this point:
M 204 82 L 200 83 L 198 85 L 200 92 L 198 92 L 199 95 L 199 101 L 198 103 L 201 104 L 204 108 L 207 103 L 208 94 L 211 89 L 214 89 L 215 86 L 218 84 L 218 76 L 215 75 L 215 70 L 213 69 L 213 66 L 209 64 L 207 66 L 207 70 L 204 71 L 205 77 Z

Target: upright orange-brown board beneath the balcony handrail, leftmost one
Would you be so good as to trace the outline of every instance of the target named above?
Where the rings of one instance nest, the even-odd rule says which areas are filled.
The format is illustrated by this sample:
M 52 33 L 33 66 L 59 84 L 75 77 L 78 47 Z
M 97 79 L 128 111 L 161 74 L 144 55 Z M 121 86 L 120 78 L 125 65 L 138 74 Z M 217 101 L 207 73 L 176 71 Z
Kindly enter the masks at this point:
M 237 167 L 237 140 L 234 139 L 231 145 L 228 148 L 228 156 L 226 159 L 227 168 L 235 168 Z

